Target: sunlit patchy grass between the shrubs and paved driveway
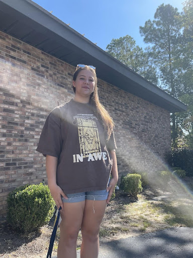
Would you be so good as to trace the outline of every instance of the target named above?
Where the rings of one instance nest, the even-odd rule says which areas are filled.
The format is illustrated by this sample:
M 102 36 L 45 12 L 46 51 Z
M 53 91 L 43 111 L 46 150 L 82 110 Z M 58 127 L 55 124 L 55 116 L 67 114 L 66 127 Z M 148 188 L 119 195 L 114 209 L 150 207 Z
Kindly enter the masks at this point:
M 153 232 L 171 226 L 193 227 L 193 199 L 163 193 L 168 198 L 147 198 L 142 193 L 137 202 L 121 204 L 121 209 L 118 202 L 113 218 L 102 223 L 101 230 L 104 226 L 111 229 L 111 234 L 124 237 L 125 233 Z

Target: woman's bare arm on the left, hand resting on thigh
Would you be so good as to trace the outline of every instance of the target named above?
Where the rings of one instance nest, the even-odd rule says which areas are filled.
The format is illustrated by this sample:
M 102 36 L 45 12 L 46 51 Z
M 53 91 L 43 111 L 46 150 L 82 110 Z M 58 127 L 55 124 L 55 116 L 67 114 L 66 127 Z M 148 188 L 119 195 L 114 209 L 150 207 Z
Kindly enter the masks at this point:
M 50 189 L 51 195 L 59 209 L 60 206 L 63 210 L 63 202 L 61 199 L 61 195 L 68 199 L 64 194 L 63 190 L 56 183 L 56 170 L 57 170 L 58 158 L 46 155 L 46 172 L 48 178 L 48 187 Z

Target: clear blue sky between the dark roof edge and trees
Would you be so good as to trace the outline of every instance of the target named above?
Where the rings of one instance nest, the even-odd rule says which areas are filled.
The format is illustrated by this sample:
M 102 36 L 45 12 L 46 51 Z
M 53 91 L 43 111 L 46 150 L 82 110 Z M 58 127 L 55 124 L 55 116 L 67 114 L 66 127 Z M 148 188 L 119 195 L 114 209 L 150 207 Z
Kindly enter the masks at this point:
M 170 4 L 182 11 L 185 0 L 33 0 L 53 11 L 52 15 L 70 27 L 85 34 L 84 37 L 106 50 L 113 38 L 130 35 L 136 44 L 145 48 L 139 26 L 153 20 L 161 4 Z

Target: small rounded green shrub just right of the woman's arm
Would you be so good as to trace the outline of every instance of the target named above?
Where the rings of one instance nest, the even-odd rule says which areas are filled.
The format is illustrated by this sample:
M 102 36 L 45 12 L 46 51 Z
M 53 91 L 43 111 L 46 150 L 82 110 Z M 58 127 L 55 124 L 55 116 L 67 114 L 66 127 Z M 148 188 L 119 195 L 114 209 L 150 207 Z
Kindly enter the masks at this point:
M 123 190 L 133 197 L 137 197 L 138 193 L 142 191 L 141 175 L 127 174 L 122 178 Z

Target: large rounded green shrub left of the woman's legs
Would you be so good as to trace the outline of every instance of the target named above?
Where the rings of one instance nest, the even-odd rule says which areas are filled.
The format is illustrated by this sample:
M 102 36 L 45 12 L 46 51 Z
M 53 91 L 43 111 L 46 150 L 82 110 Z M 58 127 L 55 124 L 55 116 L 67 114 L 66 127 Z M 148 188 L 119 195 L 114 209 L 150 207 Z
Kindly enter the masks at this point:
M 16 188 L 9 193 L 7 203 L 8 223 L 25 234 L 45 225 L 51 219 L 55 206 L 48 186 L 42 183 Z

